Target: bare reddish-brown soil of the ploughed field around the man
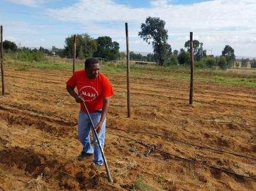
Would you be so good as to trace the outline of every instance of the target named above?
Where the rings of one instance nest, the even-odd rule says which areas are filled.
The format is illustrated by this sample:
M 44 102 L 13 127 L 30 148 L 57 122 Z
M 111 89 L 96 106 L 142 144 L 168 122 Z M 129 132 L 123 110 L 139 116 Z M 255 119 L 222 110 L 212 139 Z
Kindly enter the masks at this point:
M 0 186 L 5 190 L 254 190 L 256 87 L 147 72 L 104 72 L 114 93 L 105 167 L 79 162 L 79 104 L 70 69 L 8 64 L 0 98 Z M 1 86 L 2 88 L 2 86 Z M 92 140 L 93 141 L 93 140 Z M 138 181 L 139 180 L 139 181 Z M 1 190 L 1 189 L 0 189 Z

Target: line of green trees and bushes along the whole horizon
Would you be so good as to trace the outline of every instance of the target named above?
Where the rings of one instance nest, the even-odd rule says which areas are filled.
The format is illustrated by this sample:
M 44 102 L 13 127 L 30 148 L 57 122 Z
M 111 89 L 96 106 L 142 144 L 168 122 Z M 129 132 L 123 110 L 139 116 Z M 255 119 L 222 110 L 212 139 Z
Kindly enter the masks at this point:
M 184 48 L 179 51 L 172 51 L 171 45 L 167 43 L 168 31 L 164 28 L 165 21 L 160 18 L 148 17 L 144 24 L 141 24 L 141 31 L 138 35 L 148 44 L 152 44 L 153 53 L 147 56 L 141 53 L 129 52 L 130 60 L 157 62 L 161 66 L 171 65 L 190 65 L 190 42 L 184 43 Z M 235 62 L 234 49 L 230 45 L 225 45 L 221 56 L 207 55 L 203 48 L 203 43 L 193 41 L 193 52 L 195 67 L 213 68 L 218 66 L 220 69 L 238 67 L 240 64 Z M 18 52 L 18 58 L 26 61 L 39 61 L 44 58 L 44 54 L 61 56 L 62 58 L 73 58 L 74 56 L 74 36 L 65 39 L 64 49 L 58 49 L 52 46 L 51 51 L 40 46 L 39 49 L 18 48 L 14 42 L 4 41 L 5 52 Z M 85 59 L 94 56 L 95 58 L 104 58 L 110 61 L 124 60 L 125 52 L 119 52 L 119 43 L 112 41 L 109 36 L 99 36 L 97 39 L 92 38 L 87 33 L 76 35 L 76 52 L 75 57 Z M 250 60 L 242 58 L 241 66 L 246 68 Z M 251 61 L 251 68 L 256 68 L 255 59 Z

